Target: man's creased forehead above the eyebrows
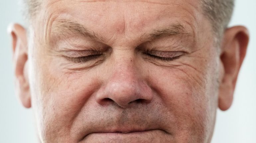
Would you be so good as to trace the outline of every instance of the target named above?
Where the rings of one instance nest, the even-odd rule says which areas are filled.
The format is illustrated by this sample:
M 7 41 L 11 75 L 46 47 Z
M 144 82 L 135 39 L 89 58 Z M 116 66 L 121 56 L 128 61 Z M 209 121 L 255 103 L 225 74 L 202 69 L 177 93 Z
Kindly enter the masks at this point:
M 198 0 L 46 0 L 42 6 L 39 21 L 48 22 L 45 29 L 60 20 L 75 21 L 108 40 L 139 38 L 145 31 L 172 23 L 193 33 L 201 21 Z

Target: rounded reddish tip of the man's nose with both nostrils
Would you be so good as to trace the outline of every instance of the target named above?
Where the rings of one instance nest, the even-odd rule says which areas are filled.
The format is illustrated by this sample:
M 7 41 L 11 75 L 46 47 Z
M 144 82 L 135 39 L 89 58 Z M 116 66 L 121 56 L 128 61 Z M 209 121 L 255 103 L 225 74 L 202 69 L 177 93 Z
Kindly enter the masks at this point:
M 153 98 L 149 86 L 132 79 L 128 82 L 125 80 L 109 82 L 102 90 L 99 90 L 100 93 L 96 97 L 99 104 L 111 102 L 122 108 L 128 108 L 132 104 L 147 104 Z

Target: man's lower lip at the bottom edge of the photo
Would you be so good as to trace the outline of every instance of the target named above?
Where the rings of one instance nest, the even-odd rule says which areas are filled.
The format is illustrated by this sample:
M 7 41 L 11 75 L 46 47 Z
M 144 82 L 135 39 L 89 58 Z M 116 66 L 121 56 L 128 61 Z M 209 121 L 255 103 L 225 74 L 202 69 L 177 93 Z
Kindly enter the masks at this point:
M 168 137 L 167 137 L 168 136 Z M 82 142 L 90 143 L 160 143 L 163 138 L 170 138 L 163 130 L 146 130 L 129 133 L 122 132 L 96 132 L 84 137 Z

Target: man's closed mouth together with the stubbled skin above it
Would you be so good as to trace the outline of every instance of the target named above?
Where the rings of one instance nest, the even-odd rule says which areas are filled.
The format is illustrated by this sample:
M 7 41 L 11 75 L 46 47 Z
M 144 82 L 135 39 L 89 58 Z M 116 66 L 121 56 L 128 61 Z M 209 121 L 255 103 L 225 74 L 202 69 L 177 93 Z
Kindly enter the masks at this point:
M 175 127 L 176 124 L 176 118 L 173 115 L 170 117 L 164 114 L 166 111 L 160 110 L 164 107 L 148 105 L 145 108 L 141 106 L 128 109 L 115 106 L 95 107 L 93 109 L 88 107 L 84 111 L 85 115 L 81 114 L 76 117 L 77 120 L 70 128 L 70 134 L 76 142 L 81 141 L 81 143 L 93 142 L 102 137 L 108 138 L 108 135 L 113 137 L 113 140 L 119 137 L 151 138 L 152 134 L 161 138 L 173 136 L 174 129 L 170 127 L 170 125 Z M 152 110 L 149 111 L 148 109 Z M 94 113 L 95 110 L 97 112 Z

